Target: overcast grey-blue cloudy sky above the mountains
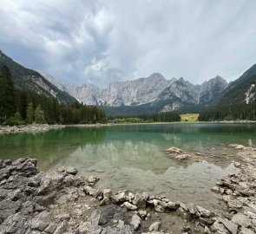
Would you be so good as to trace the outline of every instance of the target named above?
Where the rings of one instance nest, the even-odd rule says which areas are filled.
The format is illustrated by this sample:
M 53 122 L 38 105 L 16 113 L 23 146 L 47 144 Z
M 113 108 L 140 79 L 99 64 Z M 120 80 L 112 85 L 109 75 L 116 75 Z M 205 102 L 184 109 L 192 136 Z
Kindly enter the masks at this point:
M 256 63 L 255 9 L 254 0 L 9 0 L 0 49 L 75 84 L 154 72 L 232 81 Z

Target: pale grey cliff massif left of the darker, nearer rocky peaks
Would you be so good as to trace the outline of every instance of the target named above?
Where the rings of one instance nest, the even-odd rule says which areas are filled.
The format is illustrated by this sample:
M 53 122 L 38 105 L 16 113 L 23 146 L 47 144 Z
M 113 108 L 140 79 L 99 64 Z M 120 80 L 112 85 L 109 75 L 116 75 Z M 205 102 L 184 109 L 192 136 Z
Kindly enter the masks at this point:
M 154 73 L 147 78 L 135 81 L 114 81 L 107 88 L 101 89 L 93 84 L 83 84 L 82 86 L 62 84 L 51 75 L 41 74 L 78 101 L 87 105 L 108 107 L 137 106 L 154 101 L 165 88 L 176 81 L 175 79 L 167 81 L 161 74 Z

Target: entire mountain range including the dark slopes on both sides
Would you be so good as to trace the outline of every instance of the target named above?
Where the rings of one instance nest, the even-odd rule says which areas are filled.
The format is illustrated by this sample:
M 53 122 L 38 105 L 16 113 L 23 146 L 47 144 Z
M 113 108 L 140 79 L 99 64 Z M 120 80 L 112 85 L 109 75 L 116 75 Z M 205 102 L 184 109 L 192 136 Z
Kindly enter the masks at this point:
M 3 64 L 10 68 L 16 88 L 54 96 L 60 102 L 75 103 L 77 100 L 86 105 L 101 106 L 111 115 L 168 111 L 196 113 L 215 105 L 256 103 L 256 64 L 230 83 L 217 75 L 201 85 L 194 85 L 183 78 L 167 80 L 154 73 L 133 81 L 114 81 L 107 88 L 62 83 L 51 75 L 24 68 L 0 50 L 0 67 Z

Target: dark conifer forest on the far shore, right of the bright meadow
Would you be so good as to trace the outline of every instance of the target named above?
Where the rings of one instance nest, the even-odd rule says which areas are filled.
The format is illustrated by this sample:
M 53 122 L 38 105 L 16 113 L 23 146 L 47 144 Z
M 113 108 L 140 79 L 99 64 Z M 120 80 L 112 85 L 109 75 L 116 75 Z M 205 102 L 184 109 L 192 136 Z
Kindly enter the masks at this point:
M 198 119 L 200 121 L 213 120 L 256 120 L 255 104 L 239 104 L 227 107 L 212 107 L 202 110 Z

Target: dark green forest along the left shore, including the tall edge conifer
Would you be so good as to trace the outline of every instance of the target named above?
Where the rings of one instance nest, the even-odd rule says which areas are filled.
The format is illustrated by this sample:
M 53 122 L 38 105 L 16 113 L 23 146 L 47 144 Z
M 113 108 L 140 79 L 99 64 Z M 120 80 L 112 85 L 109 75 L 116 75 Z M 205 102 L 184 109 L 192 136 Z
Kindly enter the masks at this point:
M 14 88 L 10 69 L 0 69 L 0 122 L 8 125 L 23 123 L 80 124 L 105 122 L 104 111 L 78 101 L 64 104 L 54 97 L 31 90 Z

